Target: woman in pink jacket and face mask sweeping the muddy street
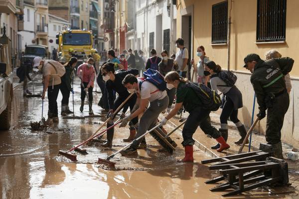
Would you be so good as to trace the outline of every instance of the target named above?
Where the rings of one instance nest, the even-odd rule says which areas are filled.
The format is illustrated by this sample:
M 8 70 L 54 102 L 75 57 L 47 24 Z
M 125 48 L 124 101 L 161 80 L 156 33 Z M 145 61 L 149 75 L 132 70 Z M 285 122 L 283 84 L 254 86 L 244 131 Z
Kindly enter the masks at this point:
M 94 81 L 96 77 L 96 71 L 93 67 L 94 60 L 93 58 L 88 58 L 87 63 L 81 64 L 78 67 L 78 77 L 81 79 L 81 106 L 80 111 L 83 112 L 84 109 L 84 100 L 88 92 L 89 100 L 89 114 L 92 115 L 92 90 L 94 87 Z

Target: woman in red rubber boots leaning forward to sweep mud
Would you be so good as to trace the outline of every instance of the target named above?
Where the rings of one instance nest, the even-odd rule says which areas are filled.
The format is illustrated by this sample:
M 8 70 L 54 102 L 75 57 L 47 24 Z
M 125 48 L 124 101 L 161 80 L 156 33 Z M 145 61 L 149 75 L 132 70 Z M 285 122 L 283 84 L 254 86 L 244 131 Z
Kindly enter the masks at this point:
M 195 141 L 192 136 L 198 126 L 205 134 L 217 140 L 220 144 L 220 147 L 217 149 L 218 152 L 228 149 L 230 146 L 225 142 L 220 132 L 211 125 L 210 110 L 206 109 L 190 83 L 186 79 L 180 78 L 175 71 L 167 73 L 165 81 L 168 89 L 176 88 L 176 102 L 170 113 L 162 119 L 161 125 L 165 125 L 182 106 L 189 112 L 182 131 L 183 142 L 181 144 L 185 148 L 185 157 L 182 161 L 193 162 L 194 160 L 193 145 Z

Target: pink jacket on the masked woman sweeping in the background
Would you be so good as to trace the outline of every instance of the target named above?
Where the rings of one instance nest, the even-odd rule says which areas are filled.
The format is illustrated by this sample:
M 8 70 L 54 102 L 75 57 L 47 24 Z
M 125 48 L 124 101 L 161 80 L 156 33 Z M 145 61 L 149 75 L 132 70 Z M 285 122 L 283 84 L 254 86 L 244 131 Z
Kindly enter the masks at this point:
M 81 72 L 82 71 L 82 72 Z M 94 81 L 96 77 L 96 71 L 94 67 L 88 68 L 87 63 L 81 64 L 78 67 L 77 75 L 82 82 L 88 83 L 87 87 L 94 87 Z

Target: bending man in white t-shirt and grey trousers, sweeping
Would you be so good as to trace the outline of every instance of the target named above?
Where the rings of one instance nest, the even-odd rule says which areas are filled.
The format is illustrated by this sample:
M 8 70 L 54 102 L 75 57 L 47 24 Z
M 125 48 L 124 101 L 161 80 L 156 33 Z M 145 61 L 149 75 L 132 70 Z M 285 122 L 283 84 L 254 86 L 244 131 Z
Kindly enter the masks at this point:
M 154 127 L 159 114 L 167 108 L 168 96 L 166 91 L 160 91 L 155 85 L 148 81 L 142 82 L 134 75 L 129 74 L 123 80 L 123 85 L 129 93 L 137 93 L 137 101 L 131 115 L 125 117 L 120 127 L 124 127 L 132 119 L 144 112 L 139 121 L 139 128 L 135 139 L 142 136 L 148 129 Z M 149 102 L 149 107 L 146 109 Z M 121 152 L 122 155 L 132 155 L 137 153 L 137 148 L 141 141 L 134 142 L 128 149 Z

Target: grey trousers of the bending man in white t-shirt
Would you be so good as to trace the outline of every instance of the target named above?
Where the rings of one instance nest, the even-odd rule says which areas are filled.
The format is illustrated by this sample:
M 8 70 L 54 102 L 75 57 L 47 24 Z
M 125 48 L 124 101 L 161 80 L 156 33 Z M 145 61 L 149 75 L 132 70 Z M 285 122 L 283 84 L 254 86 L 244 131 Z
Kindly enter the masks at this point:
M 144 135 L 147 132 L 147 130 L 155 126 L 159 114 L 167 108 L 168 102 L 169 99 L 168 96 L 166 96 L 162 100 L 153 100 L 149 103 L 149 108 L 144 112 L 143 116 L 140 118 L 139 128 L 137 130 L 135 139 Z M 135 141 L 131 145 L 131 148 L 137 149 L 141 140 Z

